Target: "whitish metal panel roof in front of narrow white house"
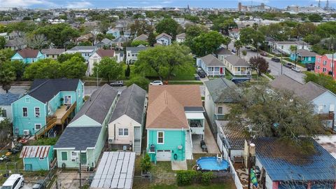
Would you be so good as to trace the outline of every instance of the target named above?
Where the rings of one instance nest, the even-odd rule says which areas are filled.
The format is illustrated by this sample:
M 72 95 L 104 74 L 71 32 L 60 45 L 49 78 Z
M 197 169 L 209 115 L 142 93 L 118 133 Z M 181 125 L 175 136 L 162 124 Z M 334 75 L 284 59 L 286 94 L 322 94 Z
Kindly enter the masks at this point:
M 135 153 L 104 152 L 90 188 L 126 188 L 133 186 Z

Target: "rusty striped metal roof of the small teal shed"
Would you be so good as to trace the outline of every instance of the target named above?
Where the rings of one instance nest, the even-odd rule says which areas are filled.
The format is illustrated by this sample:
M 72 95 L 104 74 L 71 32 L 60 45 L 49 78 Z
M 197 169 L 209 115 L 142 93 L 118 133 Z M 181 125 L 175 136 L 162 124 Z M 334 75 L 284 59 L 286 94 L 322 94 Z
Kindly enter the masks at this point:
M 50 146 L 23 146 L 20 158 L 47 158 Z

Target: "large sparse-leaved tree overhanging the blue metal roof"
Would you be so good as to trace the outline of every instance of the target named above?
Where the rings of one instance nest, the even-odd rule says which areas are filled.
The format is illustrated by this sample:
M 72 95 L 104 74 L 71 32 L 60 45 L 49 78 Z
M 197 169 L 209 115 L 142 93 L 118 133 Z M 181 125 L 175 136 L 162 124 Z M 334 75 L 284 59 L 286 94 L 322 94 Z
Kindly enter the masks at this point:
M 243 127 L 250 125 L 251 135 L 276 137 L 302 153 L 309 153 L 314 145 L 302 136 L 325 133 L 314 105 L 288 91 L 269 92 L 269 87 L 258 85 L 232 90 L 226 95 L 236 102 L 230 106 L 230 122 Z

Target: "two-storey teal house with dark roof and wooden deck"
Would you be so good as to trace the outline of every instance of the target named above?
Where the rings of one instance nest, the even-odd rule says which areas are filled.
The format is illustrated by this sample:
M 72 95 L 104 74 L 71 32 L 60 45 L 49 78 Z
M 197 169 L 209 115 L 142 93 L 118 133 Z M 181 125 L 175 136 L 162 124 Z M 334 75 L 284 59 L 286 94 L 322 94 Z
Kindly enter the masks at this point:
M 83 106 L 80 79 L 36 79 L 30 90 L 11 104 L 15 136 L 49 136 L 64 126 Z

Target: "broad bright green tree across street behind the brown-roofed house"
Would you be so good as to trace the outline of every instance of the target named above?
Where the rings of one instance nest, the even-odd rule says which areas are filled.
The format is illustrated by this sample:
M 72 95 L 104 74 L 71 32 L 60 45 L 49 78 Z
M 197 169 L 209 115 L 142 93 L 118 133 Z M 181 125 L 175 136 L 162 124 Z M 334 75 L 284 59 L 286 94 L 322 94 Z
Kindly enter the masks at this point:
M 160 80 L 169 80 L 176 71 L 193 64 L 190 49 L 185 45 L 158 45 L 139 52 L 135 63 L 137 73 L 154 71 Z

